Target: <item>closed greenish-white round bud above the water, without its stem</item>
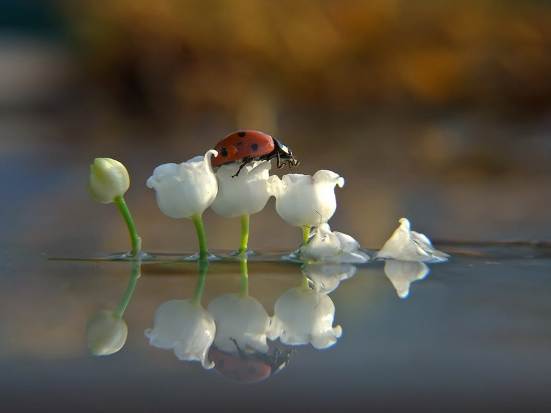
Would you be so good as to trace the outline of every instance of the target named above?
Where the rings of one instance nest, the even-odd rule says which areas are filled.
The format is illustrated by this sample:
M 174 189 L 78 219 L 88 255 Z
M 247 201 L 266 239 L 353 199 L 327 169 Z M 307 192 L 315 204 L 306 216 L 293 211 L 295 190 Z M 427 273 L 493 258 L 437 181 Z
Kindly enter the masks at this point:
M 90 167 L 88 193 L 102 204 L 114 202 L 130 187 L 130 177 L 125 166 L 111 158 L 96 158 Z

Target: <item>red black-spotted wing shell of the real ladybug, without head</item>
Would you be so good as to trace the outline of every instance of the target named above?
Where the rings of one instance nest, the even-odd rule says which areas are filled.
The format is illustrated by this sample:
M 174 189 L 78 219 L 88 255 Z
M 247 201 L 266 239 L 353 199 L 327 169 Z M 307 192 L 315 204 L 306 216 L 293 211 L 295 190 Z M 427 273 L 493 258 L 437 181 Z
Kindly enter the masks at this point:
M 260 131 L 237 131 L 229 134 L 214 147 L 218 156 L 212 158 L 212 166 L 218 167 L 234 160 L 267 155 L 275 144 L 273 138 Z

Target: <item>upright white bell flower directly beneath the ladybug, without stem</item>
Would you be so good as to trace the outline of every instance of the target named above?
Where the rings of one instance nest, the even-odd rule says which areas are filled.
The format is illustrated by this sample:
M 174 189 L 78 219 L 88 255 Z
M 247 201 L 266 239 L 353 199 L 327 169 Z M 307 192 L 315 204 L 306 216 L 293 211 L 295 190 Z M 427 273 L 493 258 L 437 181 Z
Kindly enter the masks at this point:
M 238 176 L 233 177 L 239 167 L 240 164 L 229 163 L 216 172 L 218 195 L 211 209 L 225 218 L 257 213 L 271 196 L 268 173 L 271 162 L 251 162 L 241 169 Z

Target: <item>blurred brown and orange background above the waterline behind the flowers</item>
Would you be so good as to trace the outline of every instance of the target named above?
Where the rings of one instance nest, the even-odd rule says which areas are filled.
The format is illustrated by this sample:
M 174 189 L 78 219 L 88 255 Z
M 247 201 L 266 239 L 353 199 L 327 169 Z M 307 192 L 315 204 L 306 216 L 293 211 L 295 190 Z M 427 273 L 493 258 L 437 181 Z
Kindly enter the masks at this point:
M 85 192 L 108 156 L 129 169 L 145 250 L 192 252 L 191 222 L 162 215 L 145 180 L 236 129 L 282 140 L 296 173 L 344 176 L 331 225 L 366 248 L 402 216 L 437 239 L 549 238 L 548 1 L 0 4 L 9 242 L 124 249 L 114 207 Z M 238 220 L 205 222 L 211 248 L 235 248 Z M 251 248 L 299 242 L 273 200 L 251 219 Z

